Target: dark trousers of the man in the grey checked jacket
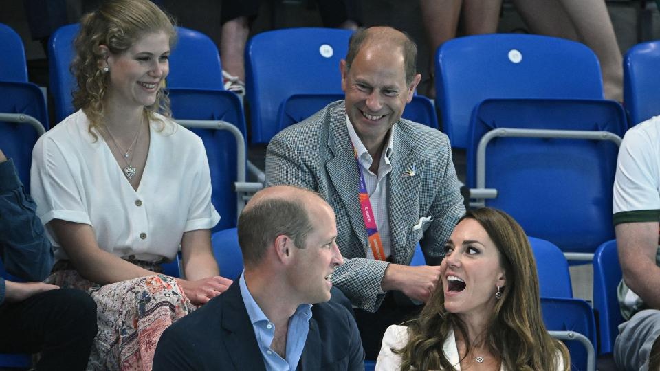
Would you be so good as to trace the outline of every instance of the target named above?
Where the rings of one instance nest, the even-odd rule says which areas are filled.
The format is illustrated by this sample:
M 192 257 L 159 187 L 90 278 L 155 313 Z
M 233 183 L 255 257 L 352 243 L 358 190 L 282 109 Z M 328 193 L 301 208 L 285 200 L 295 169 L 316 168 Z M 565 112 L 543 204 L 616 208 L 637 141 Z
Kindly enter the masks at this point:
M 403 294 L 399 293 L 401 297 Z M 385 330 L 393 324 L 401 324 L 419 315 L 423 305 L 401 305 L 395 300 L 394 293 L 388 292 L 380 308 L 369 313 L 359 308 L 353 309 L 355 321 L 362 337 L 365 358 L 375 360 L 380 352 Z

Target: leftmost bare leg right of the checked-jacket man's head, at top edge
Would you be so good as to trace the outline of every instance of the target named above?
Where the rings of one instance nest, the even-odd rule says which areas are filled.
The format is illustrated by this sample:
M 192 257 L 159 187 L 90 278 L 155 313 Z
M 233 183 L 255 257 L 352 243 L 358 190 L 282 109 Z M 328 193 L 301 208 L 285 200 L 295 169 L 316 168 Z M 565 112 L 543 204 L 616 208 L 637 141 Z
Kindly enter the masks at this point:
M 435 53 L 440 45 L 456 37 L 462 0 L 420 0 L 421 20 L 430 46 L 430 78 L 435 76 Z M 427 80 L 426 78 L 424 80 Z M 435 84 L 428 84 L 426 95 L 435 98 Z

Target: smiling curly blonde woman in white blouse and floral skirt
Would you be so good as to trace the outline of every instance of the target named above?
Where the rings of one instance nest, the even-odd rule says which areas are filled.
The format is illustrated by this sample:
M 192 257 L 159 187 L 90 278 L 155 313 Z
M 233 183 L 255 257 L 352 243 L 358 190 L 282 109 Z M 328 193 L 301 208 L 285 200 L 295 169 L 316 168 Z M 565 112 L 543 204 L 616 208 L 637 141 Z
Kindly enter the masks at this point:
M 98 306 L 90 370 L 151 370 L 162 331 L 232 283 L 212 255 L 220 216 L 203 144 L 169 118 L 175 36 L 148 0 L 103 1 L 83 16 L 80 111 L 34 147 L 32 196 L 58 260 L 47 281 Z M 179 246 L 186 280 L 160 274 Z

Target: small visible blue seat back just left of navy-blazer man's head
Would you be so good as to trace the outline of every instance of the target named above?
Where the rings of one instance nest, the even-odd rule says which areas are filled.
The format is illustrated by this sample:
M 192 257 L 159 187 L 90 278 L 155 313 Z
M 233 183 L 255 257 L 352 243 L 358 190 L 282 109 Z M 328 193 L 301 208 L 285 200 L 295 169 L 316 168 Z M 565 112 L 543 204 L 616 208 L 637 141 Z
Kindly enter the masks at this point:
M 211 236 L 213 254 L 218 262 L 220 276 L 230 280 L 239 279 L 243 271 L 243 253 L 239 246 L 239 235 L 236 228 L 215 232 Z

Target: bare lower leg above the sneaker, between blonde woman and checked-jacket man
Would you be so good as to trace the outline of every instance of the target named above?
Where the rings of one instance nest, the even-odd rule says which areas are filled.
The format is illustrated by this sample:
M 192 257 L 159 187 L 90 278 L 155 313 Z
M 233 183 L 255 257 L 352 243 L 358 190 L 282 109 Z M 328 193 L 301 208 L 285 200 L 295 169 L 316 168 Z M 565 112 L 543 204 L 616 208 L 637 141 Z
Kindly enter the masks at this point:
M 245 43 L 248 42 L 249 34 L 248 18 L 245 16 L 239 16 L 222 25 L 220 38 L 222 68 L 241 81 L 245 81 Z

